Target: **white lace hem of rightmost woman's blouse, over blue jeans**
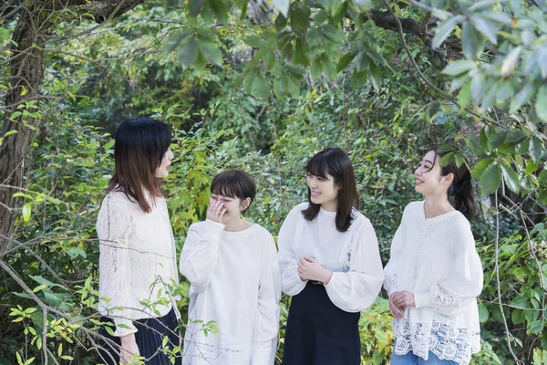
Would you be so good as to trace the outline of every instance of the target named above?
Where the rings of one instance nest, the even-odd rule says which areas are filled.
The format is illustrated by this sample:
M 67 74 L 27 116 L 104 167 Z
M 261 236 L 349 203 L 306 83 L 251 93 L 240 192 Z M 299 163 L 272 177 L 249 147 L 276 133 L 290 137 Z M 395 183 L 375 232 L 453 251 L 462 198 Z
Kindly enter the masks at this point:
M 412 351 L 428 360 L 429 351 L 440 360 L 456 361 L 459 365 L 470 363 L 471 355 L 480 351 L 479 328 L 451 328 L 449 325 L 433 320 L 429 323 L 416 323 L 416 333 L 411 333 L 406 320 L 397 320 L 395 353 L 405 355 Z

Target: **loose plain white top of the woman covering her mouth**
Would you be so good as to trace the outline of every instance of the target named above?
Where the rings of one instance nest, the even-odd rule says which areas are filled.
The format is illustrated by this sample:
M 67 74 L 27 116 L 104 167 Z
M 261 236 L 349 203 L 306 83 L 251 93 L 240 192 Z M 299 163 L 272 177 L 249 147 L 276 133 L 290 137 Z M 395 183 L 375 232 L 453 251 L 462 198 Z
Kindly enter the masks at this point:
M 181 274 L 191 283 L 182 363 L 273 365 L 281 297 L 274 237 L 259 224 L 192 224 Z M 218 334 L 206 333 L 214 321 Z

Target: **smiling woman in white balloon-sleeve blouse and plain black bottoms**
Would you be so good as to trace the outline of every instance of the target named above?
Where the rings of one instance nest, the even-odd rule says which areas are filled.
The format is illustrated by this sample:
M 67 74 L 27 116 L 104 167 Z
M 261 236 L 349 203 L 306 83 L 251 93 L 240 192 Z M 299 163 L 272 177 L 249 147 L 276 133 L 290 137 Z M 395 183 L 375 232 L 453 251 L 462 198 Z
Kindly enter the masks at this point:
M 377 235 L 357 211 L 346 152 L 321 151 L 306 171 L 308 202 L 287 215 L 278 239 L 282 290 L 293 296 L 283 364 L 359 365 L 359 312 L 384 279 Z

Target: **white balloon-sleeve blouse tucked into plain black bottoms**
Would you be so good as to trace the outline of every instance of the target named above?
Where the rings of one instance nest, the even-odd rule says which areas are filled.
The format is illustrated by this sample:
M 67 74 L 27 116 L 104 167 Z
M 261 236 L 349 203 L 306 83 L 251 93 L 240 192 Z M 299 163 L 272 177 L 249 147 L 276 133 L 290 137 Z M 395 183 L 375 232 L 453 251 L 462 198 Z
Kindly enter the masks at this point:
M 287 215 L 278 237 L 281 286 L 285 294 L 295 296 L 307 281 L 298 276 L 298 261 L 304 255 L 315 257 L 333 272 L 325 285 L 326 293 L 336 307 L 346 312 L 364 310 L 377 298 L 384 280 L 377 235 L 365 215 L 355 209 L 346 232 L 338 232 L 336 212 L 323 208 L 312 221 L 300 203 Z

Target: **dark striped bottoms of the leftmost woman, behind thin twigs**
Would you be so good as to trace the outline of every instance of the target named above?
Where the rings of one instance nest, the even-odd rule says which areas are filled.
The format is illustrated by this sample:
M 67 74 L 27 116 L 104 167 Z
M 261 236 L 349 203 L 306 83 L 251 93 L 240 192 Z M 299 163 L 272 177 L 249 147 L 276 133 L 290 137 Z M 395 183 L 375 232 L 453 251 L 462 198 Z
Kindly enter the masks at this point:
M 103 317 L 101 322 L 112 322 L 111 319 Z M 169 349 L 180 346 L 179 326 L 174 309 L 163 317 L 144 318 L 133 321 L 133 325 L 138 329 L 135 333 L 137 346 L 140 356 L 145 358 L 144 363 L 149 365 L 171 365 L 170 357 L 163 353 L 163 339 L 168 337 Z M 110 326 L 115 330 L 115 326 Z M 119 337 L 111 336 L 106 329 L 101 328 L 99 334 L 108 340 L 100 340 L 98 349 L 98 364 L 119 365 Z M 105 350 L 106 349 L 106 350 Z M 181 353 L 178 354 L 175 365 L 181 365 Z

